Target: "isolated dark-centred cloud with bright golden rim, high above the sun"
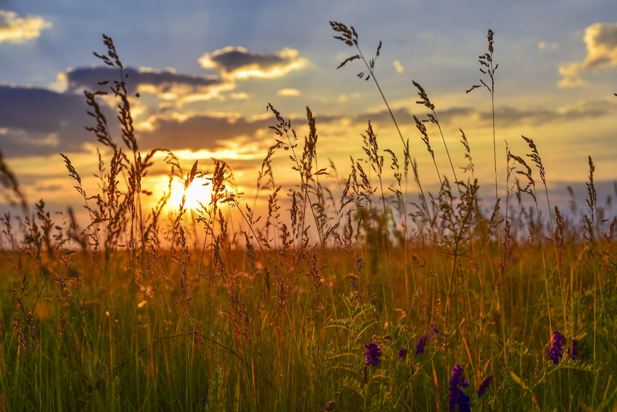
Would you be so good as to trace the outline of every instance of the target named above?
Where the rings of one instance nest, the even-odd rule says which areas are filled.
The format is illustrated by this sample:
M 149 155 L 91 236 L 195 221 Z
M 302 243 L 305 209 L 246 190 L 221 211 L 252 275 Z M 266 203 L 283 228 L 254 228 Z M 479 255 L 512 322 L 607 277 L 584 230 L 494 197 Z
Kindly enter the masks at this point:
M 265 54 L 249 52 L 244 47 L 228 46 L 205 53 L 198 61 L 202 67 L 215 68 L 228 79 L 278 78 L 309 64 L 309 60 L 298 57 L 298 54 L 297 50 L 289 48 Z

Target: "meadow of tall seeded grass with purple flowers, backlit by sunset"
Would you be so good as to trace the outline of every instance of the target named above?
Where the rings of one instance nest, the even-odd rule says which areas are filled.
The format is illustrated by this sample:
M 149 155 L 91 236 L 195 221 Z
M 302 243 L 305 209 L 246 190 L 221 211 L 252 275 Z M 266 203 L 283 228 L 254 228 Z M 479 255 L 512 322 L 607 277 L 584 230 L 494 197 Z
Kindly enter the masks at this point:
M 353 27 L 331 28 L 351 55 L 339 67 L 360 67 L 387 107 L 373 72 L 381 43 L 367 59 Z M 468 93 L 488 105 L 499 82 L 490 30 L 487 43 Z M 616 410 L 617 217 L 598 204 L 592 157 L 586 203 L 563 210 L 523 137 L 526 153 L 494 150 L 484 184 L 495 196 L 482 200 L 462 132 L 465 159 L 435 162 L 431 193 L 415 157 L 449 148 L 439 109 L 413 82 L 425 114 L 410 138 L 426 152 L 411 153 L 402 133 L 401 146 L 380 147 L 368 122 L 348 176 L 318 163 L 308 107 L 302 139 L 268 104 L 273 146 L 256 172 L 260 196 L 247 199 L 222 160 L 183 170 L 172 152 L 141 152 L 130 78 L 112 39 L 104 45 L 95 54 L 118 78 L 85 93 L 88 130 L 109 154 L 93 159 L 100 191 L 86 192 L 63 155 L 87 227 L 42 200 L 25 213 L 0 157 L 15 200 L 0 219 L 0 411 Z M 116 100 L 117 118 L 101 99 Z M 169 190 L 147 207 L 141 183 L 161 151 Z M 276 157 L 289 157 L 282 173 L 295 186 L 276 185 Z M 209 199 L 189 208 L 184 196 L 165 213 L 174 180 L 185 193 L 207 183 Z

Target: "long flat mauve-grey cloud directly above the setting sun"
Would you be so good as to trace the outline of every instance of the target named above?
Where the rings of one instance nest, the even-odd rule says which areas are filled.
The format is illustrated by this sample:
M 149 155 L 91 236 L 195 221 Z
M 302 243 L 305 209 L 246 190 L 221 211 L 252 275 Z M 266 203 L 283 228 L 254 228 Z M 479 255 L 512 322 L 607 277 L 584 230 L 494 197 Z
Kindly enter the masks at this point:
M 215 150 L 224 142 L 239 136 L 254 136 L 273 121 L 245 118 L 209 117 L 197 115 L 186 120 L 158 117 L 152 122 L 152 131 L 139 133 L 139 145 L 144 149 L 164 147 L 168 150 Z

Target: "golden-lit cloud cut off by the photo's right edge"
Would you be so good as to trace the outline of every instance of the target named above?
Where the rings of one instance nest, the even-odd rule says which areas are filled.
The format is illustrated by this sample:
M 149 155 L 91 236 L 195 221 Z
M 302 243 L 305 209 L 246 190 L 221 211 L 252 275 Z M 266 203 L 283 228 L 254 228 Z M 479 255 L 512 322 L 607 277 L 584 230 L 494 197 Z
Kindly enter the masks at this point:
M 585 29 L 582 39 L 587 45 L 587 56 L 582 62 L 559 67 L 563 76 L 558 83 L 560 88 L 584 84 L 579 77 L 583 70 L 617 66 L 617 23 L 594 23 Z

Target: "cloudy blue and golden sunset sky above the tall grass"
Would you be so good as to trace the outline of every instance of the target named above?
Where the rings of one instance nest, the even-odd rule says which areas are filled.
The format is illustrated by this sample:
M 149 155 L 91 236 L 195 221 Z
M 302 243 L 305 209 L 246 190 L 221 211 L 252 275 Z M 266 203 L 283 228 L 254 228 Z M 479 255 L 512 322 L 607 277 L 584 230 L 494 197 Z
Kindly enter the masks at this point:
M 276 138 L 268 128 L 276 123 L 268 103 L 291 119 L 300 147 L 310 107 L 320 166 L 331 159 L 340 176 L 349 173 L 350 156 L 364 157 L 361 135 L 369 120 L 379 148 L 402 159 L 400 137 L 375 83 L 356 76 L 366 72 L 361 61 L 337 69 L 357 51 L 333 38 L 330 20 L 354 26 L 367 59 L 383 42 L 375 78 L 429 190 L 439 190 L 439 179 L 415 128 L 413 115 L 426 118 L 426 107 L 416 104 L 412 81 L 435 105 L 458 178 L 466 165 L 462 129 L 481 194 L 494 196 L 491 96 L 486 89 L 465 93 L 487 80 L 478 56 L 487 51 L 491 29 L 499 64 L 494 97 L 500 191 L 506 187 L 505 142 L 513 154 L 528 154 L 524 135 L 536 143 L 550 194 L 563 207 L 566 186 L 584 204 L 588 156 L 598 200 L 615 196 L 614 0 L 2 0 L 0 150 L 30 202 L 44 199 L 52 210 L 80 205 L 60 153 L 83 176 L 86 192 L 97 191 L 96 150 L 106 151 L 85 130 L 94 123 L 83 91 L 117 79 L 117 71 L 93 56 L 106 52 L 106 34 L 129 74 L 140 149 L 172 150 L 186 168 L 198 160 L 209 170 L 211 157 L 225 160 L 249 199 L 257 168 Z M 112 122 L 113 107 L 105 110 Z M 439 173 L 452 180 L 439 131 L 429 124 L 428 134 Z M 116 139 L 121 141 L 119 134 Z M 155 192 L 167 184 L 163 157 L 148 180 Z M 277 184 L 297 184 L 286 152 L 277 152 L 273 165 Z M 337 187 L 334 179 L 331 184 Z

